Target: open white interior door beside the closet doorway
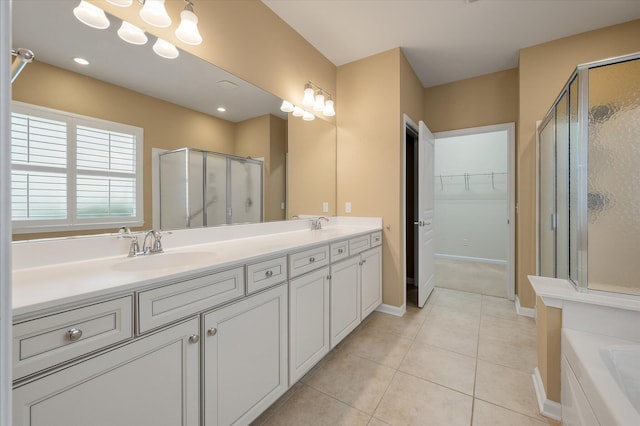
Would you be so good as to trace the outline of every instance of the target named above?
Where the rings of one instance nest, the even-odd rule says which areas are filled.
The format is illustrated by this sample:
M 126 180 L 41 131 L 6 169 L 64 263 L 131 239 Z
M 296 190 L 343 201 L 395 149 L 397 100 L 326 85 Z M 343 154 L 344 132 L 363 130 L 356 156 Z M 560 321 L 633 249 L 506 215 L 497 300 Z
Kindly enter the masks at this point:
M 418 306 L 423 307 L 434 286 L 435 258 L 433 247 L 433 158 L 435 138 L 424 122 L 418 131 Z

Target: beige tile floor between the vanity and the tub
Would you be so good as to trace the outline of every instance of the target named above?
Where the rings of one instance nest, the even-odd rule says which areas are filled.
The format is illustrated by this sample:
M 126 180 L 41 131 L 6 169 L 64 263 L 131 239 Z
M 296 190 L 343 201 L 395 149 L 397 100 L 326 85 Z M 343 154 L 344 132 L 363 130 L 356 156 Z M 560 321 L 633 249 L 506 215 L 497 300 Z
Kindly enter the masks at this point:
M 538 414 L 533 319 L 513 302 L 436 288 L 404 317 L 379 312 L 255 425 L 556 425 Z

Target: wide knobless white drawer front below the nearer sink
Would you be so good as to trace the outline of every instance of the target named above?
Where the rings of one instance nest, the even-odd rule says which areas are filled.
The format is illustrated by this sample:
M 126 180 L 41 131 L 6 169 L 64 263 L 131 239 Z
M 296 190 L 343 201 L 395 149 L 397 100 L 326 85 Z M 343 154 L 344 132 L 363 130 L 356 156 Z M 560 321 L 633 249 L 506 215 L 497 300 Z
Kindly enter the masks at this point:
M 138 293 L 138 333 L 244 296 L 244 266 Z

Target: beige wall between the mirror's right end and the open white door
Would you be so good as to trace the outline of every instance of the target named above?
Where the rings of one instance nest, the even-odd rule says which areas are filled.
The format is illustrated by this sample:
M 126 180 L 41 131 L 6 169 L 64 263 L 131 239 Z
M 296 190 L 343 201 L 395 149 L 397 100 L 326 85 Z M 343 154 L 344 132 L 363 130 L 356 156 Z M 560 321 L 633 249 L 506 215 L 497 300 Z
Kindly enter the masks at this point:
M 383 303 L 394 306 L 404 303 L 400 56 L 393 49 L 340 66 L 337 78 L 338 215 L 382 217 Z

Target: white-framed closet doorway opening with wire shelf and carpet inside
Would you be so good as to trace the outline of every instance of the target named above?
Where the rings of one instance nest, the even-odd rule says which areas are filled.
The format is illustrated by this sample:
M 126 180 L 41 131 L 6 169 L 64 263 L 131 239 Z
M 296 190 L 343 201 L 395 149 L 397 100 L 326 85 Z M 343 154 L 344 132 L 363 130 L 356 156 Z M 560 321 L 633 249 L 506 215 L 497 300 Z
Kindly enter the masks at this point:
M 514 298 L 513 123 L 436 133 L 437 287 Z

